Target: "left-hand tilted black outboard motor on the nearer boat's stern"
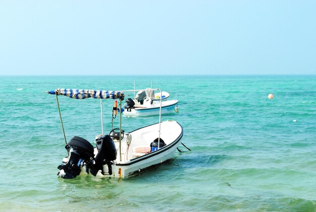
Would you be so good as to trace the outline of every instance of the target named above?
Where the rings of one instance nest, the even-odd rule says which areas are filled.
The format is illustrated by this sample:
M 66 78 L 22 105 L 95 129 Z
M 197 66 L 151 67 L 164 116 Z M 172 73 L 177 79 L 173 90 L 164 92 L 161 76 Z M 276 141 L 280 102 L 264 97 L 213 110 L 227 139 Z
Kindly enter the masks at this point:
M 73 137 L 65 146 L 69 153 L 69 159 L 66 164 L 61 164 L 58 169 L 61 171 L 58 176 L 65 179 L 73 179 L 80 174 L 80 165 L 83 162 L 88 167 L 93 161 L 94 148 L 90 142 L 78 136 Z

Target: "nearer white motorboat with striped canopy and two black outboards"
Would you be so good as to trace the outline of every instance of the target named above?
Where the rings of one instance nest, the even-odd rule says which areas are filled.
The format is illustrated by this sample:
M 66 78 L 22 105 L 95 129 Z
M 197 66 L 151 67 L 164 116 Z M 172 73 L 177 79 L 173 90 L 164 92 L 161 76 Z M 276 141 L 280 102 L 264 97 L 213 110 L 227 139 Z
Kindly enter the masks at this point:
M 154 90 L 160 91 L 159 89 Z M 135 90 L 108 92 L 56 89 L 47 93 L 56 95 L 57 103 L 60 95 L 73 99 L 100 99 L 101 106 L 102 99 L 119 99 L 119 108 L 121 108 L 124 93 L 133 91 Z M 162 101 L 159 102 L 161 103 L 161 111 Z M 59 103 L 58 108 L 60 112 Z M 116 116 L 117 100 L 115 100 L 113 111 L 113 114 Z M 60 117 L 62 129 L 65 132 L 61 112 Z M 74 136 L 67 143 L 64 133 L 68 157 L 65 157 L 62 164 L 58 166 L 58 169 L 60 169 L 58 176 L 65 179 L 73 179 L 81 174 L 91 174 L 99 177 L 127 178 L 174 157 L 183 136 L 182 126 L 177 121 L 161 121 L 160 113 L 159 122 L 129 133 L 125 133 L 121 129 L 121 121 L 122 113 L 120 113 L 120 128 L 112 129 L 109 135 L 104 135 L 101 107 L 102 133 L 95 137 L 96 147 L 87 140 L 77 136 Z

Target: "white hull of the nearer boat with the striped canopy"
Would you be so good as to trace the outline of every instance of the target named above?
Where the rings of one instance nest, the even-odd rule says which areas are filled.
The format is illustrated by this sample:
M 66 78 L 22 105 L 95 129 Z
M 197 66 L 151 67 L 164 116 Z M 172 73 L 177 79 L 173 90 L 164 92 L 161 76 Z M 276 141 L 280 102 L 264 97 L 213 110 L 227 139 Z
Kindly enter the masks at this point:
M 166 143 L 166 146 L 153 152 L 150 152 L 150 143 L 159 136 L 159 123 L 125 134 L 121 142 L 121 157 L 119 141 L 114 140 L 118 156 L 112 164 L 112 175 L 109 174 L 108 165 L 105 164 L 103 165 L 103 175 L 99 171 L 96 176 L 127 178 L 144 171 L 150 166 L 173 158 L 183 136 L 182 126 L 176 121 L 163 121 L 160 132 L 160 138 Z M 130 138 L 130 145 L 128 145 Z M 145 150 L 145 152 L 136 151 L 139 149 Z M 149 152 L 146 152 L 148 150 Z M 96 148 L 94 152 L 97 153 Z M 68 157 L 64 158 L 63 162 L 67 163 L 67 161 Z M 85 164 L 81 166 L 81 174 L 86 174 Z

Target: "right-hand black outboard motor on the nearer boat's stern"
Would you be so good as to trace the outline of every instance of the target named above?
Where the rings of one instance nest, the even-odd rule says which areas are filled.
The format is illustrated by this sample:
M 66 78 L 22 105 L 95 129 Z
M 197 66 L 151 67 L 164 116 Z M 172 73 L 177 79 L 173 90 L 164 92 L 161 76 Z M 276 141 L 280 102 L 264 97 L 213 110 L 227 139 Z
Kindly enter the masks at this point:
M 101 170 L 101 174 L 104 175 L 102 166 L 107 164 L 109 167 L 109 175 L 112 175 L 112 161 L 116 160 L 117 157 L 114 141 L 111 136 L 106 135 L 99 137 L 95 141 L 95 144 L 98 152 L 95 156 L 95 164 L 91 166 L 90 173 L 96 176 L 97 172 Z

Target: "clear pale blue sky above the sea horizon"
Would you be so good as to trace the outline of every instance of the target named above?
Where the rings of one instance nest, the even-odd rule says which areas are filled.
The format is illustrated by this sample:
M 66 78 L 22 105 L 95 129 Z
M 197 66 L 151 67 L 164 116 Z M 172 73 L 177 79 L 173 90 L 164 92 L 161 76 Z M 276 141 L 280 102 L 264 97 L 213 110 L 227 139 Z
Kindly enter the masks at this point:
M 316 1 L 0 0 L 0 75 L 316 74 Z

